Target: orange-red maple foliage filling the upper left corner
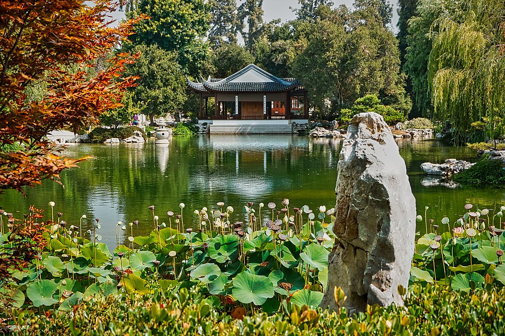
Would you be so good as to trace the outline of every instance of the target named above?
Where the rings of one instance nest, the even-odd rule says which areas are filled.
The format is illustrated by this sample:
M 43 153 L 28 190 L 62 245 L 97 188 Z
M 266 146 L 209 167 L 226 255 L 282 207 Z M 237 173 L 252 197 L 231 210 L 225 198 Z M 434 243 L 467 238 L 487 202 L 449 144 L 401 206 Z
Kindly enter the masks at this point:
M 62 157 L 44 137 L 51 130 L 78 132 L 95 124 L 134 86 L 135 77 L 121 74 L 135 56 L 106 57 L 142 19 L 113 27 L 110 13 L 119 5 L 112 0 L 92 5 L 0 0 L 0 192 L 22 191 L 46 178 L 59 181 L 62 170 L 87 159 Z M 95 66 L 97 59 L 106 59 L 104 65 Z M 29 101 L 26 89 L 40 82 L 47 94 Z M 15 143 L 23 150 L 2 151 Z

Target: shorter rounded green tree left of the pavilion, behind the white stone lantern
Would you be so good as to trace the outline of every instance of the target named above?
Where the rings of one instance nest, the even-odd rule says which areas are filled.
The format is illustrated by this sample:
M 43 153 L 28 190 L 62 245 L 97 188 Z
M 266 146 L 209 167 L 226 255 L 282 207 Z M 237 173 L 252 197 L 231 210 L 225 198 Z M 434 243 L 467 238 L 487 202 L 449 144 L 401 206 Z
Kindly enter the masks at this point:
M 140 77 L 138 85 L 131 89 L 133 104 L 149 115 L 151 124 L 155 115 L 178 111 L 186 99 L 187 83 L 177 54 L 156 44 L 140 44 L 132 52 L 139 53 L 139 58 L 126 73 Z

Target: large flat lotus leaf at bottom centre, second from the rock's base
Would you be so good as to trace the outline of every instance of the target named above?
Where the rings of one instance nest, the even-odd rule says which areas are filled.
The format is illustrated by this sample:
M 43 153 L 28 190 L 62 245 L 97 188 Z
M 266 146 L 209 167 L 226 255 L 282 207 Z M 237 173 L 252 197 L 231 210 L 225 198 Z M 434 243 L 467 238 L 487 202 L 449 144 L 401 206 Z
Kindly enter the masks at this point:
M 268 298 L 274 297 L 274 286 L 270 279 L 242 272 L 233 280 L 233 296 L 241 303 L 264 304 Z

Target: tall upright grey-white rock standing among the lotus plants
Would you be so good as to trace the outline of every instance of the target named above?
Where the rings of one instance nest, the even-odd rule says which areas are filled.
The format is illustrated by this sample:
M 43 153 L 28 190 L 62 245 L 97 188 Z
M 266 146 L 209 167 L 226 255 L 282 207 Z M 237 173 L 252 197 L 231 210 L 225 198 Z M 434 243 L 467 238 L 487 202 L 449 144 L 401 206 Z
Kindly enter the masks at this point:
M 364 311 L 367 304 L 401 305 L 398 286 L 408 287 L 414 255 L 416 200 L 382 116 L 352 118 L 337 172 L 337 239 L 321 304 L 336 309 L 333 292 L 340 286 L 350 313 Z

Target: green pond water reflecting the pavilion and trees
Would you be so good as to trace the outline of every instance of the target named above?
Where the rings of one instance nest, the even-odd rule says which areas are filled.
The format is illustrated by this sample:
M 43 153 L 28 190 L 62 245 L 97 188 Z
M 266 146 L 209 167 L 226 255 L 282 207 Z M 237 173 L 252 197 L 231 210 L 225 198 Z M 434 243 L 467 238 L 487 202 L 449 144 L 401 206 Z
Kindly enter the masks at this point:
M 435 140 L 401 140 L 398 146 L 407 163 L 418 213 L 424 215 L 428 206 L 428 218 L 439 221 L 445 215 L 462 214 L 466 203 L 491 209 L 505 204 L 505 188 L 422 185 L 426 175 L 421 163 L 440 163 L 446 158 L 475 160 L 467 148 Z M 138 220 L 140 234 L 150 231 L 150 205 L 156 206 L 161 223 L 167 220 L 167 211 L 177 214 L 179 203 L 184 203 L 185 226 L 191 222 L 193 227 L 197 226 L 193 211 L 215 208 L 219 201 L 235 208 L 234 220 L 242 219 L 241 208 L 247 201 L 280 205 L 283 198 L 289 198 L 290 207 L 307 204 L 315 209 L 324 204 L 331 208 L 340 148 L 340 140 L 302 136 L 173 137 L 169 145 L 79 144 L 69 146 L 64 154 L 95 159 L 64 172 L 65 188 L 46 181 L 27 189 L 26 198 L 9 191 L 0 199 L 0 206 L 22 218 L 29 205 L 47 211 L 48 202 L 54 201 L 55 216 L 63 212 L 62 219 L 69 224 L 77 225 L 86 214 L 83 228 L 88 228 L 99 218 L 100 233 L 109 244 L 115 242 L 118 221 Z

